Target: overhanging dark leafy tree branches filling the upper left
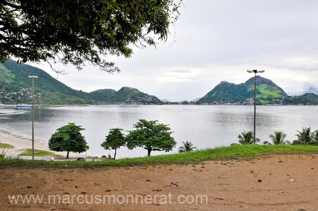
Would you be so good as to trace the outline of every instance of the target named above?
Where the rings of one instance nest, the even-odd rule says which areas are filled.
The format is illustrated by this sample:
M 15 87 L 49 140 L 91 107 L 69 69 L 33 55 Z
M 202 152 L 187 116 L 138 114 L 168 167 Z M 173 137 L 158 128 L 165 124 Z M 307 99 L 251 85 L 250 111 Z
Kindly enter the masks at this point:
M 182 0 L 0 0 L 0 61 L 89 62 L 119 71 L 107 55 L 166 41 Z

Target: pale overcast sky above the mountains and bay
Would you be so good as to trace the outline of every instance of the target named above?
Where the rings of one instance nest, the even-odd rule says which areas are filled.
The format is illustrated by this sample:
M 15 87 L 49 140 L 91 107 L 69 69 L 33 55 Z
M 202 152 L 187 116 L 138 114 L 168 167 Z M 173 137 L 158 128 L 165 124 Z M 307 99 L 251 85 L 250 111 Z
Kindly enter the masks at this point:
M 183 0 L 181 17 L 157 47 L 132 58 L 108 57 L 109 74 L 87 65 L 56 64 L 58 80 L 74 89 L 130 86 L 169 101 L 203 97 L 221 81 L 244 83 L 248 69 L 264 69 L 287 93 L 318 87 L 317 0 Z M 175 33 L 174 33 L 175 32 Z M 56 78 L 46 63 L 29 63 Z

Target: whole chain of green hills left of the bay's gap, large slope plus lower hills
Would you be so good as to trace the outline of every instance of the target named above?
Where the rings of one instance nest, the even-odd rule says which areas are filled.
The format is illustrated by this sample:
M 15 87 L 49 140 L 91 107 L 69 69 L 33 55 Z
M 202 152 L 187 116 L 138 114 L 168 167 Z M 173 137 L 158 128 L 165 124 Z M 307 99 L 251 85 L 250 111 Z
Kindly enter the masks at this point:
M 90 93 L 78 91 L 54 79 L 44 70 L 27 64 L 18 64 L 12 60 L 0 63 L 0 103 L 30 104 L 32 80 L 28 78 L 29 75 L 39 77 L 35 79 L 34 91 L 37 104 L 88 104 L 93 100 L 103 103 L 162 103 L 155 96 L 129 87 L 123 87 L 119 91 L 114 89 L 99 89 Z

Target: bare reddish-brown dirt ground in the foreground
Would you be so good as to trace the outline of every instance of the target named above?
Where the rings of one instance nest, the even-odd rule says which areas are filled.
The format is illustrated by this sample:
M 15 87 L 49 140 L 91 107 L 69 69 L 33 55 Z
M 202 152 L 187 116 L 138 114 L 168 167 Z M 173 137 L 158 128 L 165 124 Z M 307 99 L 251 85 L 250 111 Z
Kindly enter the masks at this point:
M 162 195 L 169 193 L 171 200 L 162 203 Z M 8 195 L 17 199 L 19 194 L 23 197 L 39 194 L 44 198 L 41 204 L 10 203 Z M 89 200 L 91 195 L 114 195 L 119 203 L 114 204 L 112 200 L 71 203 L 66 198 L 54 204 L 48 203 L 48 195 L 81 195 L 89 196 Z M 123 203 L 127 195 L 159 195 L 163 201 L 152 198 L 152 202 L 141 204 L 139 198 L 136 204 L 129 198 L 128 203 Z M 184 198 L 178 200 L 179 195 Z M 207 203 L 205 200 L 201 203 L 199 198 L 204 195 Z M 196 197 L 198 203 L 192 203 Z M 188 203 L 182 204 L 185 199 Z M 317 211 L 318 157 L 281 155 L 254 161 L 207 161 L 184 166 L 0 169 L 0 203 L 0 211 Z

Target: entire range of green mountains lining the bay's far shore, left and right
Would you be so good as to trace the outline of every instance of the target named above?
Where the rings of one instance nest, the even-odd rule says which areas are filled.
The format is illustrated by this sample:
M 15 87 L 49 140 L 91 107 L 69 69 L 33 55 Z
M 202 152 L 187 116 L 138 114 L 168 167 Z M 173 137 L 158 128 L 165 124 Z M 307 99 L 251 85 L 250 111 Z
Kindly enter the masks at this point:
M 146 94 L 132 87 L 99 89 L 92 92 L 75 90 L 51 77 L 44 70 L 9 60 L 0 63 L 0 103 L 31 103 L 32 82 L 29 75 L 36 75 L 35 99 L 37 104 L 178 104 L 167 100 L 159 100 L 156 96 Z M 257 76 L 257 104 L 279 105 L 318 105 L 318 90 L 310 88 L 301 96 L 290 97 L 273 81 Z M 204 97 L 194 99 L 197 105 L 202 104 L 234 104 L 252 105 L 254 97 L 254 77 L 242 84 L 226 81 L 216 85 Z

